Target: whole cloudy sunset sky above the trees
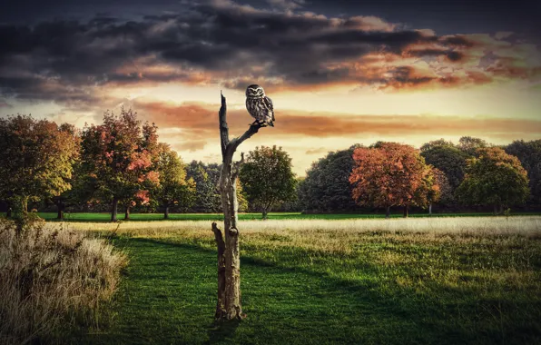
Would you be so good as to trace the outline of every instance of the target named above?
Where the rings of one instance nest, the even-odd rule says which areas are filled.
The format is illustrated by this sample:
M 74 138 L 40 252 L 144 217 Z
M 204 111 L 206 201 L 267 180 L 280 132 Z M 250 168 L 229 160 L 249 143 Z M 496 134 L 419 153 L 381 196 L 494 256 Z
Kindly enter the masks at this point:
M 185 162 L 277 145 L 302 176 L 330 151 L 463 135 L 541 139 L 541 3 L 522 0 L 59 0 L 0 5 L 0 116 L 101 123 L 132 107 Z

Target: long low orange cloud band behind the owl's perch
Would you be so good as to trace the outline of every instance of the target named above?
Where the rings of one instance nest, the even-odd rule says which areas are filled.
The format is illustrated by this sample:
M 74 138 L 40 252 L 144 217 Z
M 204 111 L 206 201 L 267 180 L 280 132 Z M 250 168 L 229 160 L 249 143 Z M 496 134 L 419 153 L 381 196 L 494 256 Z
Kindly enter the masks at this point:
M 215 104 L 136 104 L 136 109 L 160 128 L 180 128 L 182 137 L 192 140 L 188 150 L 202 148 L 206 140 L 213 140 L 218 131 L 219 105 Z M 231 135 L 246 130 L 253 119 L 245 110 L 229 110 Z M 513 133 L 541 135 L 541 121 L 514 118 L 476 118 L 433 115 L 350 115 L 341 113 L 309 113 L 281 110 L 276 112 L 273 136 L 355 137 L 356 135 L 501 135 Z M 164 138 L 168 138 L 166 134 Z M 312 149 L 311 153 L 316 153 Z M 310 151 L 310 150 L 309 150 Z M 307 152 L 307 154 L 310 154 Z

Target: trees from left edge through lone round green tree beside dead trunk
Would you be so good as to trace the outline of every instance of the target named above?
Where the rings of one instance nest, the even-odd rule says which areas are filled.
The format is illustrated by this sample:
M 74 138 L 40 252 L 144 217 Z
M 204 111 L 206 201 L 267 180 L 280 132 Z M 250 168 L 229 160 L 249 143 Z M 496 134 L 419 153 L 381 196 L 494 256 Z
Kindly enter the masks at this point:
M 0 119 L 0 201 L 7 217 L 25 215 L 29 203 L 42 209 L 54 204 L 59 219 L 68 209 L 107 211 L 112 222 L 119 210 L 124 219 L 133 210 L 161 211 L 165 219 L 171 211 L 221 212 L 221 165 L 183 163 L 158 139 L 157 126 L 138 120 L 132 109 L 106 112 L 103 123 L 83 129 L 24 114 Z M 280 173 L 278 180 L 269 178 L 274 171 Z M 248 211 L 250 199 L 252 209 L 266 216 L 295 195 L 291 160 L 281 148 L 249 153 L 241 178 L 241 211 Z

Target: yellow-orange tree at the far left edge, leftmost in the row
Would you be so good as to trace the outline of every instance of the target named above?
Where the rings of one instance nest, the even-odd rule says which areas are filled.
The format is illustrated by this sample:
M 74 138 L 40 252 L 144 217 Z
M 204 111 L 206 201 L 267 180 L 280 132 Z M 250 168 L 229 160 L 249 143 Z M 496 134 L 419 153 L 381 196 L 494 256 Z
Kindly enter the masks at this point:
M 78 143 L 67 124 L 31 115 L 0 118 L 0 195 L 25 214 L 29 201 L 54 198 L 72 186 Z

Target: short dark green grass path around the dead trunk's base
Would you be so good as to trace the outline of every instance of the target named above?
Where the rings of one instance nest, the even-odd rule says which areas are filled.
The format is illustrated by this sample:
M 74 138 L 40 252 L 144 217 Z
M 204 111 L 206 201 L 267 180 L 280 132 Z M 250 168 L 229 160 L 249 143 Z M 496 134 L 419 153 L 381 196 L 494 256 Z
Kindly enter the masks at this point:
M 475 301 L 475 296 L 438 301 L 438 296 L 397 291 L 389 298 L 380 293 L 381 270 L 375 267 L 359 266 L 356 274 L 363 279 L 346 281 L 289 265 L 286 259 L 271 264 L 250 250 L 241 262 L 243 309 L 248 319 L 217 329 L 211 326 L 215 251 L 178 239 L 121 238 L 115 245 L 127 251 L 131 260 L 117 294 L 117 315 L 106 333 L 87 335 L 84 343 L 508 342 L 497 327 L 479 333 L 475 323 L 466 322 L 475 319 L 476 312 L 482 313 L 469 301 Z M 463 291 L 457 291 L 457 296 L 462 295 Z M 462 320 L 461 313 L 466 319 Z M 461 326 L 462 321 L 466 324 Z M 520 330 L 520 325 L 516 327 Z

